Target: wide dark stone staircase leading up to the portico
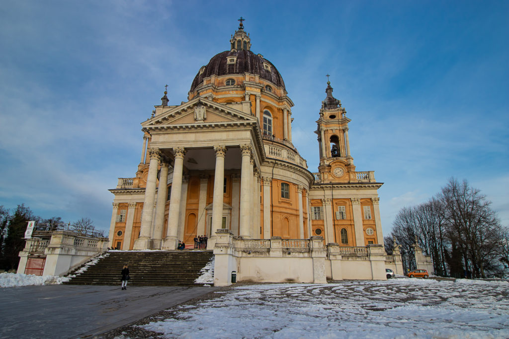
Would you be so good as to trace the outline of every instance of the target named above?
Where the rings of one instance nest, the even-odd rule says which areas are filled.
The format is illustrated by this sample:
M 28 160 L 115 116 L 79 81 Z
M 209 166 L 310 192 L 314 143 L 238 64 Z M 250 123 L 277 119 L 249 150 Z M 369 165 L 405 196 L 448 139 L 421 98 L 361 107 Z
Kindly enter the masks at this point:
M 212 251 L 108 251 L 92 259 L 95 264 L 84 272 L 76 273 L 87 264 L 71 272 L 76 276 L 64 284 L 120 286 L 120 271 L 128 264 L 129 286 L 195 286 L 194 280 L 213 256 Z

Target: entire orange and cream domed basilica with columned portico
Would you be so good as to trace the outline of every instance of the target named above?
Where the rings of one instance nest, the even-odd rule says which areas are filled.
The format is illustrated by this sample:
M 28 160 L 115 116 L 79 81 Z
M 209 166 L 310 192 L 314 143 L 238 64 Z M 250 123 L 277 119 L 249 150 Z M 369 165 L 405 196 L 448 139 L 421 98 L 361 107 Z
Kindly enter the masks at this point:
M 110 245 L 175 250 L 206 235 L 224 273 L 216 285 L 231 283 L 231 271 L 252 281 L 385 279 L 382 183 L 356 171 L 351 120 L 330 82 L 312 172 L 292 142 L 285 82 L 251 51 L 242 20 L 227 46 L 197 71 L 186 102 L 170 105 L 165 91 L 142 122 L 135 176 L 110 190 Z

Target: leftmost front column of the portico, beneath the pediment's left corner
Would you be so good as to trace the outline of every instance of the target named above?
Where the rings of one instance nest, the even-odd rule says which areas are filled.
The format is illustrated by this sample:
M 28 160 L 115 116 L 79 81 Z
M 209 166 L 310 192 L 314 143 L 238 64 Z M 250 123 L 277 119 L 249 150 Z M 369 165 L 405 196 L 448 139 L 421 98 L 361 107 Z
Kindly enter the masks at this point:
M 150 236 L 152 233 L 152 213 L 156 195 L 157 165 L 161 152 L 158 148 L 149 148 L 149 175 L 145 188 L 145 200 L 143 201 L 142 226 L 139 238 L 134 241 L 134 250 L 147 250 L 150 248 Z

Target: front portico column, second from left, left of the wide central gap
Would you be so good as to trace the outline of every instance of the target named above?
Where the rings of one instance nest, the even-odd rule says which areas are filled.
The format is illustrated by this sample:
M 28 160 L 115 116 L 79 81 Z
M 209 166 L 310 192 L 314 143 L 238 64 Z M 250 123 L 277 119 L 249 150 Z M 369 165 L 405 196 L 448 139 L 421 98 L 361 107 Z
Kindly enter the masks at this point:
M 169 197 L 168 228 L 166 230 L 166 237 L 162 244 L 162 248 L 164 250 L 177 249 L 177 230 L 180 213 L 180 195 L 182 190 L 182 169 L 184 167 L 184 156 L 186 150 L 184 147 L 175 147 L 173 149 L 173 153 L 175 156 L 175 163 L 173 165 L 172 193 Z

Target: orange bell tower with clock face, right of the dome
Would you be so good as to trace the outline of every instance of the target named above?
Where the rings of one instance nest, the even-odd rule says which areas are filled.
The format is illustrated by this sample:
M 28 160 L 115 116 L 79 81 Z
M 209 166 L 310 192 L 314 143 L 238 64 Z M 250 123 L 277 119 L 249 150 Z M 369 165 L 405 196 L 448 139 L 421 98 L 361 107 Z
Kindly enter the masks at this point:
M 351 120 L 347 118 L 341 101 L 332 96 L 330 81 L 327 81 L 325 93 L 327 97 L 322 101 L 320 118 L 316 121 L 318 129 L 315 131 L 320 147 L 318 170 L 324 181 L 348 182 L 349 172 L 355 171 L 348 140 L 348 123 Z

